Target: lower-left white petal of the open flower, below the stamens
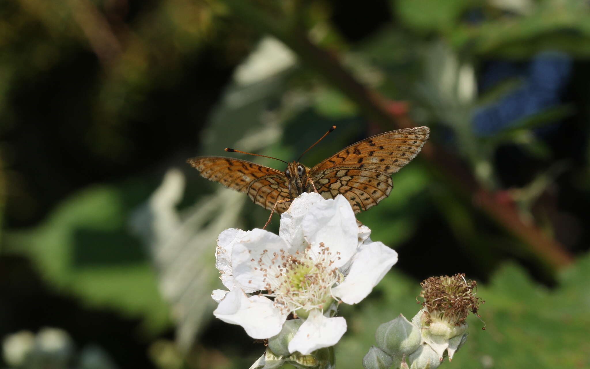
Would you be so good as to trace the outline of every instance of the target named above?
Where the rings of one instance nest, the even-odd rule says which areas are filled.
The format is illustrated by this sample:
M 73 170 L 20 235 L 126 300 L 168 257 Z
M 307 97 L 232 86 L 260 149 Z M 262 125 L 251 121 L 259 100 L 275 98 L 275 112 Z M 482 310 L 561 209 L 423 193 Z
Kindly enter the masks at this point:
M 224 322 L 241 325 L 250 337 L 259 340 L 277 335 L 287 319 L 270 299 L 248 296 L 241 289 L 228 292 L 213 314 Z

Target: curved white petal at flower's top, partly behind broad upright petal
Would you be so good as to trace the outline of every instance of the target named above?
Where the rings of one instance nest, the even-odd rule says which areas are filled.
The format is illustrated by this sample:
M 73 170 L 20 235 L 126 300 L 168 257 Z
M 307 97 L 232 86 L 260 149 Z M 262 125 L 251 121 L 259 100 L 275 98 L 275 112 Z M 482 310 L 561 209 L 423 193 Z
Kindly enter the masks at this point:
M 324 201 L 319 193 L 311 192 L 302 193 L 297 199 L 293 200 L 289 210 L 281 214 L 281 225 L 278 229 L 278 235 L 295 249 L 303 250 L 307 243 L 303 238 L 303 229 L 301 222 L 303 217 L 309 212 L 309 209 L 316 203 Z

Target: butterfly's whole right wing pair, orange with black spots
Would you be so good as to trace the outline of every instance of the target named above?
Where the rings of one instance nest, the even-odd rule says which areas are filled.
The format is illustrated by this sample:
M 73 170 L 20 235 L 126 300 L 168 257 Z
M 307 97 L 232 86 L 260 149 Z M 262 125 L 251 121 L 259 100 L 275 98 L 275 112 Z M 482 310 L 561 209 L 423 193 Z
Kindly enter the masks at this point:
M 391 174 L 414 159 L 429 136 L 428 127 L 377 134 L 317 164 L 310 175 L 324 198 L 342 193 L 357 213 L 389 195 L 393 188 Z

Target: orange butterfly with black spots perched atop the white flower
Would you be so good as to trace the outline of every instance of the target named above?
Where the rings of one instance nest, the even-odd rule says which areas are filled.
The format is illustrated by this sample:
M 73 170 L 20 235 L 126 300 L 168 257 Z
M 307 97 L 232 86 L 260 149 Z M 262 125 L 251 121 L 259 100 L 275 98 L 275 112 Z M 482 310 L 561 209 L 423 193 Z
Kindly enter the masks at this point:
M 326 134 L 335 128 L 333 126 Z M 222 156 L 197 156 L 186 162 L 199 170 L 202 177 L 247 193 L 254 203 L 273 212 L 275 209 L 278 213 L 285 212 L 290 201 L 303 192 L 318 192 L 325 199 L 342 194 L 358 213 L 377 205 L 389 195 L 393 188 L 391 174 L 416 157 L 429 135 L 428 127 L 377 134 L 345 147 L 312 168 L 299 163 L 301 157 L 290 163 L 281 160 L 287 164 L 284 172 Z

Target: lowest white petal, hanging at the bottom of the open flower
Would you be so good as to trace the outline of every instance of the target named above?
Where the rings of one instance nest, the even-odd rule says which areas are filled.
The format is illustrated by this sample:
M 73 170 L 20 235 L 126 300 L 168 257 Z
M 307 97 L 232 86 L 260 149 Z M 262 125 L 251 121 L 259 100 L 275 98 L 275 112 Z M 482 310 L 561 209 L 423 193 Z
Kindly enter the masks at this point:
M 327 318 L 319 309 L 310 311 L 309 317 L 289 342 L 289 352 L 299 351 L 303 355 L 322 347 L 330 347 L 346 332 L 346 320 L 342 317 Z

